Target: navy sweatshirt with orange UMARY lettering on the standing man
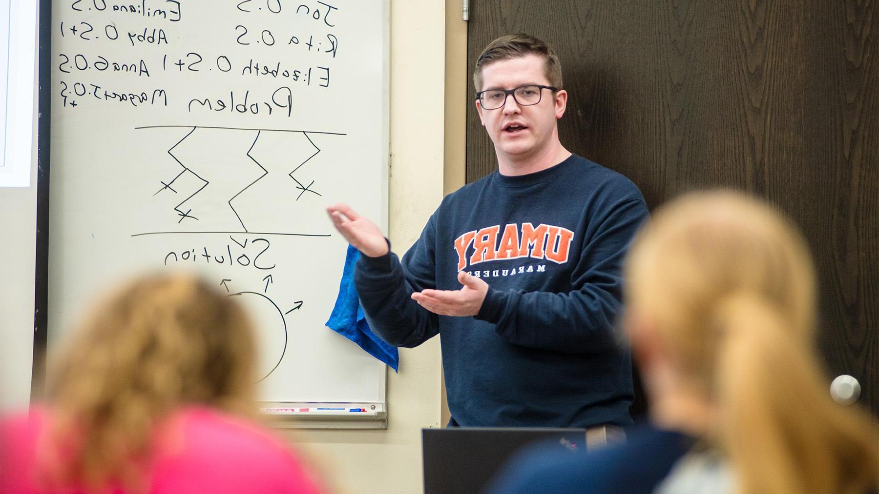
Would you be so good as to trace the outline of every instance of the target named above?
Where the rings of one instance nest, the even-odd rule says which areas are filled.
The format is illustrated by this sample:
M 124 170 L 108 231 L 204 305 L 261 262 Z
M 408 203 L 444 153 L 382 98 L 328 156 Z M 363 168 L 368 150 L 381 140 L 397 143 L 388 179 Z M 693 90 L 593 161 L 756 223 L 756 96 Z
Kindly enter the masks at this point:
M 636 185 L 572 155 L 534 174 L 497 171 L 448 195 L 403 256 L 360 256 L 354 282 L 382 339 L 440 334 L 452 425 L 628 425 L 632 376 L 614 323 L 621 264 L 647 206 Z M 489 284 L 475 317 L 425 310 L 414 290 Z

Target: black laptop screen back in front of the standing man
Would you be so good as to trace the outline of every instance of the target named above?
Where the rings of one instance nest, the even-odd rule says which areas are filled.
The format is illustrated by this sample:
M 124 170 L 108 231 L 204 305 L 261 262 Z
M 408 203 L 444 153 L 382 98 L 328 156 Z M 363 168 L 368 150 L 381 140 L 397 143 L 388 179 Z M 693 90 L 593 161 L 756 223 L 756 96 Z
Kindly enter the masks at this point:
M 422 429 L 425 494 L 478 494 L 523 447 L 547 443 L 574 455 L 585 441 L 586 430 L 577 428 Z

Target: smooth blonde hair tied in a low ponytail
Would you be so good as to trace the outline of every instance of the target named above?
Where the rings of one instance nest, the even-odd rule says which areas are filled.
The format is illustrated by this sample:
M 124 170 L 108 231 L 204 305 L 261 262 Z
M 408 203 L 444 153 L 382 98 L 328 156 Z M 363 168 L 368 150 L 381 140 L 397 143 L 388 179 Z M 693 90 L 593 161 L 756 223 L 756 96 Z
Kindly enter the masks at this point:
M 875 488 L 879 431 L 830 397 L 812 343 L 815 274 L 786 219 L 739 193 L 691 193 L 657 211 L 626 270 L 629 310 L 716 410 L 708 440 L 738 492 Z

